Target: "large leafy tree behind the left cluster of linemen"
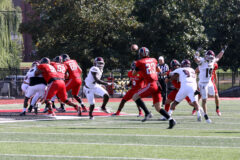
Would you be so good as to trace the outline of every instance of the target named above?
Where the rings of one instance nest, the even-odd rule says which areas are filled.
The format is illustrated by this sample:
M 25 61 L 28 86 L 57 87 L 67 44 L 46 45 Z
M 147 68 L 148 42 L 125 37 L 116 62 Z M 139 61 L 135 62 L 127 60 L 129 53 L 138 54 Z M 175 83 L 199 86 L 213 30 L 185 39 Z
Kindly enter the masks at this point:
M 104 57 L 110 69 L 131 59 L 129 47 L 134 40 L 131 31 L 138 25 L 129 16 L 133 1 L 29 0 L 29 3 L 35 14 L 31 21 L 21 24 L 21 32 L 32 35 L 38 58 L 67 53 L 80 62 L 85 72 L 97 56 Z

